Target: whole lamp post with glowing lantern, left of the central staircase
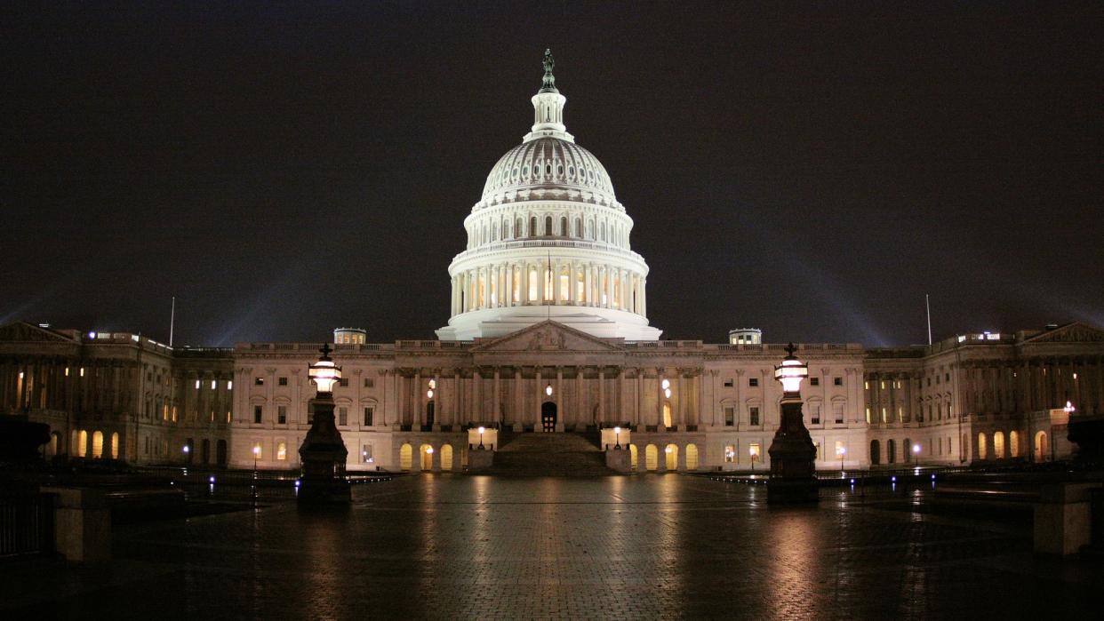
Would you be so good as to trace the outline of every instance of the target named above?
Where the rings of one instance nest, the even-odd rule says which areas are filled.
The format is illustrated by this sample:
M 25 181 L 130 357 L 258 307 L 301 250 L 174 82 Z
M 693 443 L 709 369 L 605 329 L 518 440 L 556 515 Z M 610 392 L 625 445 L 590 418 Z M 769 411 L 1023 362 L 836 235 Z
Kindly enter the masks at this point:
M 333 424 L 333 385 L 341 379 L 341 367 L 330 358 L 333 350 L 329 343 L 318 351 L 322 355 L 307 371 L 318 386 L 318 394 L 312 399 L 315 419 L 299 447 L 302 477 L 298 499 L 300 504 L 348 503 L 350 492 L 344 471 L 349 450 Z

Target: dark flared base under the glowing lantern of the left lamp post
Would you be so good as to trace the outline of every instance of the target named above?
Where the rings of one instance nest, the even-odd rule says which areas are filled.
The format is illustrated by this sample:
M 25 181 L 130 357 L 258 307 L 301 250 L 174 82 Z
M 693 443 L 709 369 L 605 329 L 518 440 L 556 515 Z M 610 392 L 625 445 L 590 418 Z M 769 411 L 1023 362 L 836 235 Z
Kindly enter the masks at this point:
M 344 472 L 348 457 L 349 450 L 333 424 L 333 397 L 319 393 L 315 399 L 315 420 L 299 447 L 302 463 L 299 503 L 348 503 L 350 491 Z

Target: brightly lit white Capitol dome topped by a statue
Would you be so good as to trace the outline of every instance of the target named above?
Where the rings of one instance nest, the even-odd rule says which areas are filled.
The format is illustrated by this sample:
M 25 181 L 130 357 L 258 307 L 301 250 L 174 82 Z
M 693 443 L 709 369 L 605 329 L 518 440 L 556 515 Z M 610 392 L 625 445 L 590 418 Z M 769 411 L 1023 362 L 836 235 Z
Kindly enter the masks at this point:
M 495 338 L 552 320 L 588 334 L 655 341 L 648 265 L 629 247 L 633 218 L 602 162 L 563 124 L 567 98 L 544 54 L 533 126 L 491 169 L 464 218 L 467 248 L 448 266 L 442 341 Z

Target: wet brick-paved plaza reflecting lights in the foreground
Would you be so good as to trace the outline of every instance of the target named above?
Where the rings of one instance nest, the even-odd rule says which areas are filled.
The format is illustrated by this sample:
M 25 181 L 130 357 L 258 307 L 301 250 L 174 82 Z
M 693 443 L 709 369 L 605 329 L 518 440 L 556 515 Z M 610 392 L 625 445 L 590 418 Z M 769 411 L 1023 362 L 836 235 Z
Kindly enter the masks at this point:
M 828 490 L 777 508 L 765 491 L 415 475 L 355 488 L 346 512 L 118 527 L 106 567 L 0 571 L 0 617 L 1053 619 L 1104 593 L 1104 567 L 1033 558 L 1022 518 Z

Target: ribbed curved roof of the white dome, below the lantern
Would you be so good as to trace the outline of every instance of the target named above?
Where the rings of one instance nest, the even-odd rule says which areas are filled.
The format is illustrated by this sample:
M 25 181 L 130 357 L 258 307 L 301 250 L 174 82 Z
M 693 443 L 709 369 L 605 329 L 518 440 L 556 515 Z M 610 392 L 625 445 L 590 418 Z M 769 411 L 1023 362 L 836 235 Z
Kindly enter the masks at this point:
M 522 142 L 502 156 L 487 176 L 482 200 L 528 190 L 574 190 L 617 200 L 605 167 L 593 153 L 552 137 Z

